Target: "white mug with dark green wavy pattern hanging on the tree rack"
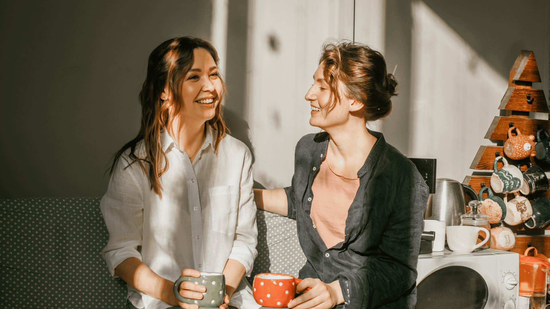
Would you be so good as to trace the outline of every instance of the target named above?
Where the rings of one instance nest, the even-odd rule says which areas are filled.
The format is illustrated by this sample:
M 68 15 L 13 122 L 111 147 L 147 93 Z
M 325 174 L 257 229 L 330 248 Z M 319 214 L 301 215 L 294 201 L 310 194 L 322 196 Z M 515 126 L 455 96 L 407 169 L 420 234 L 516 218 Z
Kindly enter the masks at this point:
M 497 162 L 502 160 L 504 166 L 497 169 Z M 499 156 L 493 162 L 493 174 L 491 175 L 491 187 L 495 193 L 513 193 L 519 191 L 523 185 L 523 175 L 521 170 L 514 165 L 508 164 L 508 161 Z

